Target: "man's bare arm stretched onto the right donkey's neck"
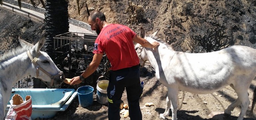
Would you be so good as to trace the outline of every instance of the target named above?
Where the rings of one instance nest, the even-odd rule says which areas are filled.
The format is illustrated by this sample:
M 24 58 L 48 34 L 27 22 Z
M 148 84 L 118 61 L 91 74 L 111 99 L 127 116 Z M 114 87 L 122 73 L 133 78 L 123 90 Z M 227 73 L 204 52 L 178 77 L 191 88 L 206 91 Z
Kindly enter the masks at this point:
M 141 44 L 143 47 L 146 47 L 146 48 L 155 48 L 157 46 L 159 46 L 159 42 L 153 42 L 153 43 L 150 43 L 148 42 L 146 39 L 144 38 L 141 38 L 139 37 L 138 35 L 135 35 L 132 40 L 136 43 L 139 43 Z

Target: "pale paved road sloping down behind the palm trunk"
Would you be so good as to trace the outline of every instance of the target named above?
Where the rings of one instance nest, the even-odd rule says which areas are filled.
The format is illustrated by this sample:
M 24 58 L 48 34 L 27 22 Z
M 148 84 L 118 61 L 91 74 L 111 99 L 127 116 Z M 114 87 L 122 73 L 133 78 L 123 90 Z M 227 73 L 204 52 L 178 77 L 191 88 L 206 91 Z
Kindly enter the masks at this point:
M 3 3 L 4 3 L 4 4 L 7 4 L 7 5 L 10 5 L 10 6 L 13 6 L 13 7 L 15 7 L 15 8 L 19 8 L 18 6 L 15 6 L 15 5 L 6 3 L 6 2 L 3 2 Z M 12 10 L 12 8 L 10 8 L 10 7 L 8 7 L 8 6 L 5 6 L 5 5 L 2 5 L 2 6 L 0 5 L 0 7 L 4 7 L 4 8 L 7 8 L 7 9 L 9 9 L 9 10 Z M 34 14 L 34 15 L 36 15 L 36 16 L 38 16 L 38 17 L 41 17 L 41 18 L 43 18 L 43 19 L 45 18 L 45 15 L 42 14 L 42 13 L 39 13 L 39 12 L 30 10 L 30 9 L 26 9 L 26 8 L 21 8 L 21 10 L 24 10 L 24 11 L 26 11 L 26 12 L 32 13 L 32 14 Z M 21 11 L 19 11 L 19 10 L 15 10 L 15 9 L 14 9 L 14 12 L 21 13 L 21 14 L 24 14 L 24 15 L 27 15 L 27 16 L 28 16 L 28 14 L 26 14 L 26 13 L 24 13 L 24 12 L 21 12 Z M 42 21 L 42 20 L 40 20 L 40 19 L 38 19 L 38 18 L 36 18 L 36 17 L 33 17 L 33 16 L 30 16 L 30 17 L 33 18 L 33 19 L 37 19 L 37 20 L 39 20 L 39 21 Z M 84 29 L 84 28 L 75 26 L 75 25 L 73 25 L 73 24 L 69 24 L 69 32 L 78 32 L 78 35 L 79 35 L 79 33 L 94 34 L 94 33 L 90 32 L 90 31 L 87 30 L 87 29 Z

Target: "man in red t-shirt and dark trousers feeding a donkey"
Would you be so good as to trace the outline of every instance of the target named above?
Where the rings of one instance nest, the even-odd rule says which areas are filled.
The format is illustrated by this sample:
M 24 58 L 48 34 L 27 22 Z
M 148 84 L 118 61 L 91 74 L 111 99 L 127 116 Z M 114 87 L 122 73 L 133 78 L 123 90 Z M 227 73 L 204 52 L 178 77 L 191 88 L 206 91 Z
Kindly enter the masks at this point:
M 108 23 L 105 15 L 100 11 L 93 11 L 88 18 L 88 23 L 98 34 L 94 44 L 94 56 L 86 70 L 80 76 L 71 79 L 70 85 L 79 84 L 91 75 L 99 66 L 105 52 L 111 63 L 107 88 L 108 119 L 120 120 L 119 106 L 126 88 L 130 119 L 142 120 L 139 105 L 142 94 L 139 58 L 133 41 L 148 48 L 155 48 L 159 43 L 149 43 L 125 25 Z

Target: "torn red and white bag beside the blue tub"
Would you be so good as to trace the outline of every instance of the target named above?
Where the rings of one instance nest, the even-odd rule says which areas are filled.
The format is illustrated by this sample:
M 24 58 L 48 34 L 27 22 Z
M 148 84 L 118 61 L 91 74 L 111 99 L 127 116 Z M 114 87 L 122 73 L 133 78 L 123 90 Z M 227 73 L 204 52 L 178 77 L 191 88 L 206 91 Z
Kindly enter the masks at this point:
M 19 94 L 15 94 L 10 100 L 11 107 L 7 112 L 5 120 L 31 120 L 32 100 L 31 96 L 26 96 L 23 101 Z

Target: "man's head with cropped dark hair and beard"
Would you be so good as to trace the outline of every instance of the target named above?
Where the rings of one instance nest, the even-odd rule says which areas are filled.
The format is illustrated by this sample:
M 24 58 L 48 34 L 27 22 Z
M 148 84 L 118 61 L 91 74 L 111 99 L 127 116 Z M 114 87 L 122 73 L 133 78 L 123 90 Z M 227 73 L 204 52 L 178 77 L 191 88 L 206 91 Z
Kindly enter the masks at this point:
M 99 34 L 103 28 L 104 21 L 106 21 L 106 17 L 100 11 L 93 11 L 88 18 L 88 23 L 91 26 L 91 30 L 95 30 L 97 34 Z

